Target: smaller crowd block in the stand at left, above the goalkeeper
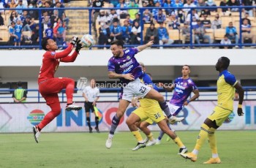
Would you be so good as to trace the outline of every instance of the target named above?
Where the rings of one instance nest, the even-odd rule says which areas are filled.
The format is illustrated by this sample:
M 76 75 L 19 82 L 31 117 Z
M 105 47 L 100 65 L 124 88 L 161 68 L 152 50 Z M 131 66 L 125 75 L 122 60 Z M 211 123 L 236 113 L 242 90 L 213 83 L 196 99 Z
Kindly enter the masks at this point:
M 64 2 L 70 0 L 1 0 L 0 7 L 5 8 L 1 13 L 7 15 L 7 27 L 10 34 L 10 45 L 39 45 L 39 27 L 42 28 L 42 37 L 55 39 L 57 45 L 66 45 L 66 31 L 69 18 L 65 15 Z M 28 8 L 29 10 L 26 10 Z M 41 8 L 42 15 L 38 10 Z M 53 9 L 43 9 L 53 8 Z M 0 15 L 1 19 L 4 18 Z M 39 25 L 41 20 L 41 25 Z M 4 22 L 1 23 L 4 25 Z M 0 24 L 0 26 L 1 26 Z

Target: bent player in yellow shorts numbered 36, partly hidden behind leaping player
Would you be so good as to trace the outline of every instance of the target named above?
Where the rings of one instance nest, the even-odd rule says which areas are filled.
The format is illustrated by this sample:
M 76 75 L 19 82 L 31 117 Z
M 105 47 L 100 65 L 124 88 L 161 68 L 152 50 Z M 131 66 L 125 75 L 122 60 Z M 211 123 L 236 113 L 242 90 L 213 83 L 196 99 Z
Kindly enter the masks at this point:
M 132 106 L 138 107 L 139 97 L 132 100 Z M 160 129 L 165 132 L 173 141 L 178 145 L 179 153 L 187 153 L 187 148 L 181 142 L 179 137 L 167 126 L 167 119 L 163 114 L 159 103 L 153 99 L 140 99 L 140 107 L 138 107 L 134 112 L 132 112 L 127 118 L 127 126 L 135 138 L 138 140 L 138 144 L 132 150 L 138 150 L 140 148 L 145 148 L 146 143 L 141 136 L 137 123 L 140 121 L 145 121 L 150 118 L 152 121 L 157 123 Z

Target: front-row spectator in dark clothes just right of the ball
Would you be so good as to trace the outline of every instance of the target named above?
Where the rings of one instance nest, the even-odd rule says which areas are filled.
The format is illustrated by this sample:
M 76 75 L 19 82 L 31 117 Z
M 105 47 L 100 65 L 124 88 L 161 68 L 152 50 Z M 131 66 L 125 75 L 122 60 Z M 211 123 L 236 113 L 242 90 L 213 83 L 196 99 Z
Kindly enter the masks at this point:
M 100 23 L 100 27 L 99 27 L 98 43 L 99 43 L 99 45 L 109 45 L 110 42 L 111 42 L 111 39 L 110 39 L 110 28 L 105 23 L 105 21 L 102 21 Z M 106 47 L 104 47 L 104 49 L 106 49 Z

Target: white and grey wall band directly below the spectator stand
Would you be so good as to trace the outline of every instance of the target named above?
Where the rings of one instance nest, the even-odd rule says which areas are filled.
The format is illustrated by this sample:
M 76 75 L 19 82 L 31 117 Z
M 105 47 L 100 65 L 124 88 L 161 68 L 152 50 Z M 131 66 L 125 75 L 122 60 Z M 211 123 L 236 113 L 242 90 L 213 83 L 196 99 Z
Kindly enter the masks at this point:
M 42 64 L 44 50 L 0 50 L 0 82 L 27 81 L 28 88 L 37 86 L 37 75 Z M 94 77 L 108 79 L 110 50 L 81 50 L 74 63 L 61 63 L 56 77 Z M 154 80 L 173 80 L 181 75 L 181 66 L 192 66 L 191 76 L 196 80 L 216 80 L 215 64 L 221 56 L 230 58 L 230 72 L 239 79 L 256 79 L 255 50 L 212 50 L 212 49 L 147 49 L 136 58 L 146 65 Z

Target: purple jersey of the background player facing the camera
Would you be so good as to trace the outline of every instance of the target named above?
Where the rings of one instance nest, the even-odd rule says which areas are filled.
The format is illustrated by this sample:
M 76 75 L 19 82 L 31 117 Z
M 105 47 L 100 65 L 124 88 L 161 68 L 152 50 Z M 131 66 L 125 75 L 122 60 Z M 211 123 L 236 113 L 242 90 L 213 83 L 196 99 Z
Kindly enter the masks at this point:
M 186 80 L 182 77 L 178 77 L 174 83 L 176 87 L 174 88 L 173 97 L 170 99 L 170 104 L 181 107 L 184 102 L 187 101 L 190 93 L 197 89 L 197 86 L 190 77 Z

